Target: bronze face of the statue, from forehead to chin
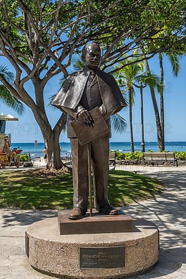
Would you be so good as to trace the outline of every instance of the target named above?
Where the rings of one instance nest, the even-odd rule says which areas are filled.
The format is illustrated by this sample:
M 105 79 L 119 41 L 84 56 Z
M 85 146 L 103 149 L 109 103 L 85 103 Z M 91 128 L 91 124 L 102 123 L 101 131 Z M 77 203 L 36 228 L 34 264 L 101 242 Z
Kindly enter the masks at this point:
M 101 64 L 101 51 L 98 46 L 91 45 L 88 47 L 85 54 L 85 65 L 92 69 L 97 70 Z

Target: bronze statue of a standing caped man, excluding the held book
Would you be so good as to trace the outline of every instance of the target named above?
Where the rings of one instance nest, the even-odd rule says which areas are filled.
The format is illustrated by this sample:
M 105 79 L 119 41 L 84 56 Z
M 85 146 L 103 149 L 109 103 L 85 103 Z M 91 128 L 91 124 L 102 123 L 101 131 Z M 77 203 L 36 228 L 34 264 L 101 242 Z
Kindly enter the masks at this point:
M 117 210 L 109 204 L 107 197 L 110 116 L 127 106 L 113 76 L 100 70 L 99 45 L 85 45 L 82 49 L 82 59 L 85 64 L 83 69 L 66 79 L 52 101 L 53 106 L 68 113 L 67 135 L 71 142 L 74 186 L 74 206 L 69 219 L 81 219 L 86 214 L 88 200 L 87 145 L 80 146 L 71 121 L 79 117 L 86 125 L 91 126 L 93 122 L 89 111 L 99 107 L 110 129 L 109 133 L 90 143 L 92 173 L 97 210 L 103 214 L 117 215 Z

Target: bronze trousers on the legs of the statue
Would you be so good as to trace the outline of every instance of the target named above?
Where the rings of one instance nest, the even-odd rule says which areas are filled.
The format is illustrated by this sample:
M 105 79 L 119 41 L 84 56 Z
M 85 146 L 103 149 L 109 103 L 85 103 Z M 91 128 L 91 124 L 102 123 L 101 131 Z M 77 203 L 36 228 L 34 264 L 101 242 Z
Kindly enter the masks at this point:
M 87 145 L 80 146 L 77 138 L 71 138 L 74 185 L 74 207 L 87 211 L 88 201 L 88 153 Z M 109 204 L 107 197 L 109 175 L 109 138 L 98 137 L 90 143 L 95 206 Z

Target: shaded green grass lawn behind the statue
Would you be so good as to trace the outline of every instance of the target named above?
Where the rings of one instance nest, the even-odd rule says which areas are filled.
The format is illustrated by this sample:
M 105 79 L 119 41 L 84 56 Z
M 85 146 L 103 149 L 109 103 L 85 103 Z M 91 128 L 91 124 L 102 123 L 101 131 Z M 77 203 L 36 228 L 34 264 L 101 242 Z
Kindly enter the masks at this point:
M 133 172 L 110 171 L 108 196 L 114 206 L 161 194 L 160 182 Z M 33 171 L 0 173 L 0 206 L 30 210 L 65 209 L 73 206 L 72 175 L 45 177 Z

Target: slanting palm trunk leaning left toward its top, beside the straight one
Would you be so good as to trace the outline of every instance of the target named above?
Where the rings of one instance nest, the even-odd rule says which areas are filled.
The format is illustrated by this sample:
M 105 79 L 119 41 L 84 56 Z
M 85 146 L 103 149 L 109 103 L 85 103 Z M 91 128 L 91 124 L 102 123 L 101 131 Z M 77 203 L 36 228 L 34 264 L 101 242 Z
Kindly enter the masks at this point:
M 149 68 L 149 64 L 148 64 L 147 60 L 145 60 L 145 66 L 146 66 L 147 73 L 150 75 L 150 68 Z M 152 86 L 150 86 L 150 94 L 151 94 L 153 109 L 154 109 L 155 118 L 156 118 L 158 149 L 159 149 L 159 151 L 163 151 L 164 146 L 162 145 L 162 127 L 161 127 L 161 122 L 160 122 L 160 114 L 159 114 L 159 110 L 158 110 L 158 104 L 157 104 L 154 88 Z

